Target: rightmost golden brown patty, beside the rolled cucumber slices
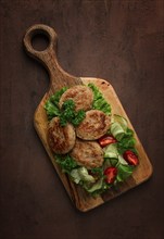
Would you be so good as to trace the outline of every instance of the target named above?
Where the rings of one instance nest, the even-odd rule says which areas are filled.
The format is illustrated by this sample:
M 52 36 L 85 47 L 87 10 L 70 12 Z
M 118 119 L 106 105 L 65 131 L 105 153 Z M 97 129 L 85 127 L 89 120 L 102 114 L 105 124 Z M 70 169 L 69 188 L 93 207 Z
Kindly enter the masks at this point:
M 110 123 L 110 116 L 105 115 L 102 111 L 87 111 L 85 120 L 76 127 L 76 135 L 80 139 L 86 140 L 99 139 L 108 131 Z

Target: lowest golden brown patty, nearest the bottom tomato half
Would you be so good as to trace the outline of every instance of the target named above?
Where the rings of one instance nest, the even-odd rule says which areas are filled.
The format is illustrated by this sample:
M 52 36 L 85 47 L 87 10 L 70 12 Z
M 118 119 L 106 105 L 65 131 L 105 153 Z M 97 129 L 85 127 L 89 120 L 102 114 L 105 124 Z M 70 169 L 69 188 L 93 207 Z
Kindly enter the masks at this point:
M 85 166 L 88 169 L 100 167 L 103 163 L 103 151 L 96 141 L 76 139 L 71 156 L 78 165 Z

